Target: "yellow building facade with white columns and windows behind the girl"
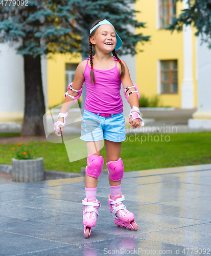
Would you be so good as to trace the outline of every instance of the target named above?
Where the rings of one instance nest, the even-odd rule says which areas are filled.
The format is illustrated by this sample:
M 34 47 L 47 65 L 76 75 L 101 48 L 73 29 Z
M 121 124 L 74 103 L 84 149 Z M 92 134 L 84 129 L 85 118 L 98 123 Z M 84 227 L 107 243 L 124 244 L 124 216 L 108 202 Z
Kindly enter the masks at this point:
M 175 0 L 138 0 L 135 9 L 140 13 L 136 14 L 136 18 L 140 22 L 146 22 L 146 28 L 137 29 L 135 32 L 150 35 L 151 40 L 144 45 L 137 45 L 137 49 L 143 51 L 136 56 L 121 58 L 126 61 L 131 79 L 137 84 L 140 94 L 147 97 L 159 95 L 163 106 L 192 109 L 199 105 L 198 96 L 200 102 L 203 101 L 198 84 L 204 84 L 205 78 L 202 75 L 199 77 L 199 71 L 204 72 L 202 62 L 210 63 L 210 52 L 208 48 L 200 45 L 200 38 L 194 35 L 196 31 L 191 26 L 184 27 L 179 33 L 171 33 L 165 29 L 186 7 L 186 1 L 176 3 Z M 23 58 L 8 44 L 0 44 L 0 51 L 0 122 L 21 121 L 24 116 L 25 97 Z M 71 54 L 42 58 L 46 110 L 63 102 L 67 84 L 73 81 L 76 67 L 81 60 L 80 55 L 73 57 Z M 210 78 L 207 79 L 208 88 Z M 123 101 L 126 102 L 124 96 Z M 127 102 L 124 110 L 127 110 L 128 115 Z

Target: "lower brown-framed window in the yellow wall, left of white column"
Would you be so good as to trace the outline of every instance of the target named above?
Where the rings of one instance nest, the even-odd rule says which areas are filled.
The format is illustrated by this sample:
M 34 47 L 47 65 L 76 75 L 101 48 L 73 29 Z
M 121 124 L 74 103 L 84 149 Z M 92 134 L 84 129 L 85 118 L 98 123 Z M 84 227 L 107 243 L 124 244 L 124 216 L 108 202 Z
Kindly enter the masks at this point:
M 161 60 L 161 93 L 177 93 L 177 60 Z

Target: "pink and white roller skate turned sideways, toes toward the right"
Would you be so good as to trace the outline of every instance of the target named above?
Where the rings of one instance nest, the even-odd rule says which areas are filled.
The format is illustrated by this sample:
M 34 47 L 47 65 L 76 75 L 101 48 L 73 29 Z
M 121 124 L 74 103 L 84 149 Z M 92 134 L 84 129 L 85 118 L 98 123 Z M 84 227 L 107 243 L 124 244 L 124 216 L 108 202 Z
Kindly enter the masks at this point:
M 114 223 L 119 227 L 138 230 L 138 225 L 135 223 L 134 214 L 126 209 L 126 206 L 122 203 L 125 197 L 116 196 L 115 201 L 111 199 L 111 195 L 108 196 L 108 205 L 110 212 L 114 218 Z

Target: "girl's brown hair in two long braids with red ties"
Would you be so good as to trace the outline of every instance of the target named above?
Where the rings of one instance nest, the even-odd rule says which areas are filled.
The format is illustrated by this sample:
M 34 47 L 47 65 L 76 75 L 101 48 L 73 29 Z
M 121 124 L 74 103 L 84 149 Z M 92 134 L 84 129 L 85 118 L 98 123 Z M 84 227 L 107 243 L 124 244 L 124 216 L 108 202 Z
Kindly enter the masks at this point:
M 102 22 L 103 19 L 100 19 L 97 21 L 97 23 L 93 24 L 91 28 L 95 27 L 99 22 Z M 90 77 L 91 77 L 91 83 L 92 84 L 95 84 L 95 74 L 93 72 L 93 61 L 92 61 L 92 44 L 91 44 L 91 41 L 90 41 L 90 38 L 92 36 L 95 35 L 95 33 L 97 32 L 99 27 L 97 27 L 94 31 L 91 32 L 91 34 L 89 35 L 89 60 L 90 60 L 90 65 L 91 65 L 91 71 L 90 71 Z M 120 62 L 120 65 L 121 65 L 121 74 L 120 74 L 120 78 L 122 78 L 125 74 L 125 66 L 124 64 L 122 63 L 122 61 L 120 60 L 120 58 L 118 57 L 118 55 L 116 54 L 116 51 L 115 49 L 112 51 L 112 54 L 113 56 Z

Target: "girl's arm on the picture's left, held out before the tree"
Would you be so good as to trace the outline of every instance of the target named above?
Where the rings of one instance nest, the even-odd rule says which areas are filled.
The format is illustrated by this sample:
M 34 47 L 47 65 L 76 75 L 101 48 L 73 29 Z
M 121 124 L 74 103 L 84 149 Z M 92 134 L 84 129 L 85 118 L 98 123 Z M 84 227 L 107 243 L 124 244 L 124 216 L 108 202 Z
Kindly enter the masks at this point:
M 79 65 L 76 69 L 75 77 L 74 77 L 73 84 L 72 84 L 72 88 L 75 90 L 80 90 L 83 85 L 83 82 L 84 82 L 83 72 L 84 72 L 85 66 L 86 66 L 86 60 L 83 60 L 79 63 Z M 73 90 L 69 90 L 68 94 L 72 95 L 72 96 L 78 95 L 78 93 Z M 67 113 L 69 111 L 69 109 L 71 109 L 73 104 L 74 104 L 74 100 L 71 97 L 67 96 L 64 99 L 60 113 L 64 113 L 64 114 Z M 64 117 L 59 117 L 58 121 L 64 122 Z M 61 133 L 63 133 L 64 127 L 62 125 L 59 125 L 59 128 L 61 129 Z M 57 132 L 57 131 L 55 131 L 55 134 L 57 136 L 61 136 L 61 134 L 59 134 L 59 132 Z

